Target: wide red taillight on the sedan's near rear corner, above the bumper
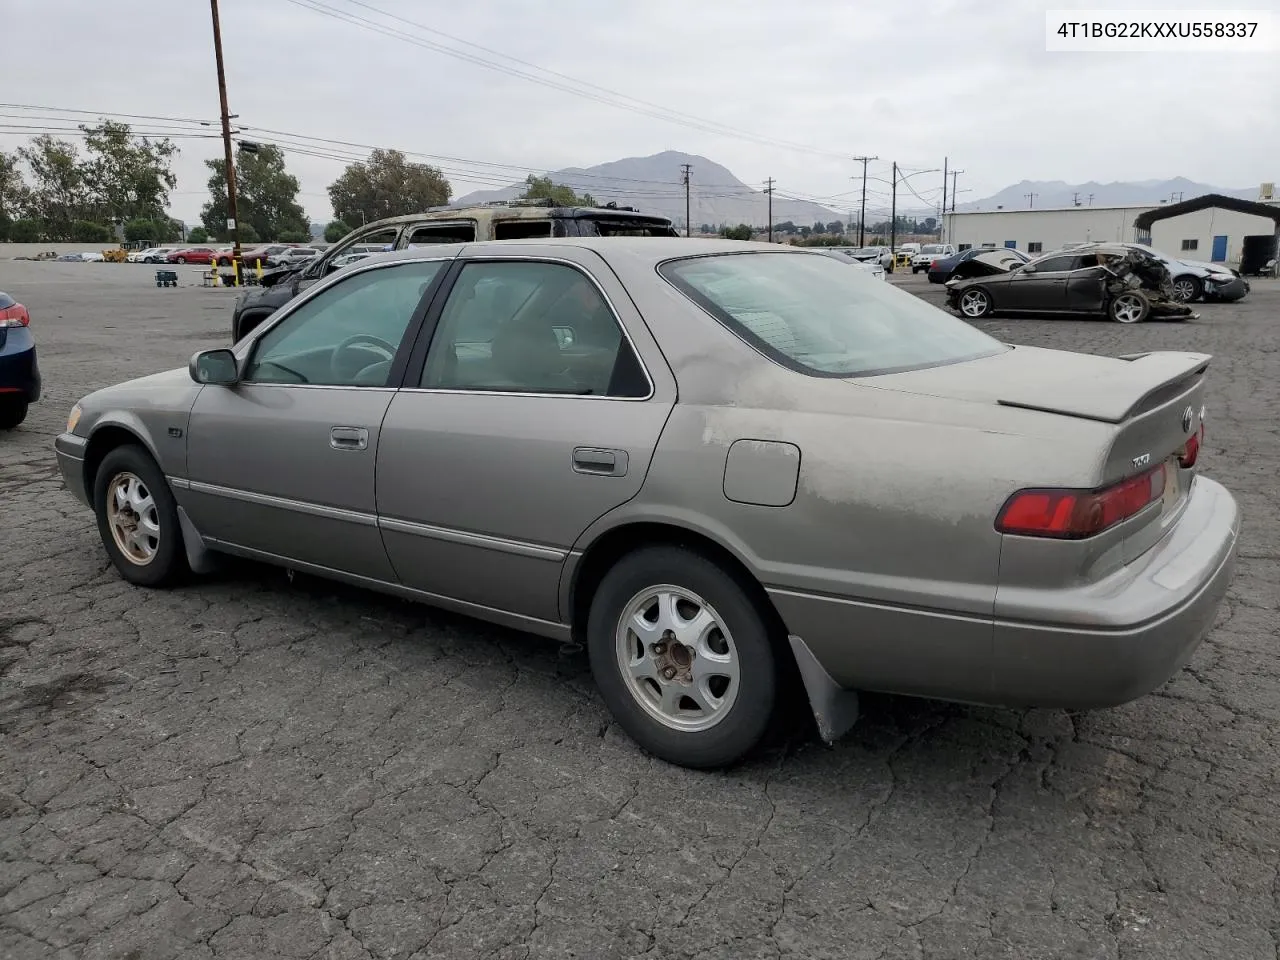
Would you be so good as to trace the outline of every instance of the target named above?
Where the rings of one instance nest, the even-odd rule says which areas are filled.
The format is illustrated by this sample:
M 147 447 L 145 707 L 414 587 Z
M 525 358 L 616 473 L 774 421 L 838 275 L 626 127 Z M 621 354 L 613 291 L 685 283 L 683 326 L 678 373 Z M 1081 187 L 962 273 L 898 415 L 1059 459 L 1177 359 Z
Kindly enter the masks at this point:
M 1082 540 L 1142 512 L 1165 495 L 1165 465 L 1102 490 L 1021 490 L 996 518 L 1002 534 Z

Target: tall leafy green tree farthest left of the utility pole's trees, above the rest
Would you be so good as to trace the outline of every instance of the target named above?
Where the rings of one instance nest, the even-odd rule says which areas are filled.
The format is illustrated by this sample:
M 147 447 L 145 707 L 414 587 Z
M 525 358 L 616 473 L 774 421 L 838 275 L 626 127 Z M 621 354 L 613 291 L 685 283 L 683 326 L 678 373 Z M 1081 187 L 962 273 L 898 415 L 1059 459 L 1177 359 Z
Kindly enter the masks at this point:
M 136 137 L 129 124 L 114 120 L 81 131 L 88 155 L 81 165 L 86 201 L 96 219 L 161 219 L 178 183 L 172 169 L 178 147 L 169 140 Z

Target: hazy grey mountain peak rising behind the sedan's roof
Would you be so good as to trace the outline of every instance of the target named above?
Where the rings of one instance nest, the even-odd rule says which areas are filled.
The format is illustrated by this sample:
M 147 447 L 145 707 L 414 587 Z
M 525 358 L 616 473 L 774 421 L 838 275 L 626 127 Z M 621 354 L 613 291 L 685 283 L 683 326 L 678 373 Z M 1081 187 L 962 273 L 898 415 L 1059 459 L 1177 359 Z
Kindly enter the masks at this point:
M 552 170 L 547 175 L 554 183 L 572 187 L 577 193 L 590 193 L 596 202 L 614 201 L 618 206 L 634 206 L 646 214 L 666 216 L 684 228 L 685 187 L 681 180 L 682 164 L 690 172 L 690 220 L 696 229 L 701 224 L 751 224 L 763 227 L 768 221 L 768 197 L 760 189 L 749 187 L 728 169 L 705 156 L 667 150 L 653 156 L 630 156 L 595 166 L 570 166 Z M 502 189 L 481 189 L 453 201 L 453 206 L 515 200 L 524 192 L 522 183 Z M 773 221 L 791 220 L 797 227 L 813 225 L 822 220 L 846 220 L 847 211 L 828 210 L 818 204 L 801 200 L 773 197 Z

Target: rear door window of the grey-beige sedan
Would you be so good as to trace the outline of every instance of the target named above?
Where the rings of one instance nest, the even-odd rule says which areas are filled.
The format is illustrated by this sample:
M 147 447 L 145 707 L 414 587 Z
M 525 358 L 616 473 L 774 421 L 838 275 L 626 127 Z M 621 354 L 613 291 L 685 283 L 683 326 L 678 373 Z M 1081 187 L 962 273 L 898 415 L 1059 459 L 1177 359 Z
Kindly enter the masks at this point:
M 563 264 L 467 264 L 419 383 L 426 389 L 643 398 L 649 383 L 600 291 Z

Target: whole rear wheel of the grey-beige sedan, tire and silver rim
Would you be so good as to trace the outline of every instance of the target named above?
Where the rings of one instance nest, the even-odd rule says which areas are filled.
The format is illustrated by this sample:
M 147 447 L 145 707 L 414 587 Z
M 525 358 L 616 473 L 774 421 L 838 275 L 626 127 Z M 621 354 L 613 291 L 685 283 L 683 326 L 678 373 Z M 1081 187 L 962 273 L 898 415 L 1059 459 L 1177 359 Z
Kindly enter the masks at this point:
M 777 667 L 765 617 L 737 577 L 699 553 L 623 557 L 591 600 L 588 649 L 614 719 L 668 763 L 724 767 L 768 730 Z

